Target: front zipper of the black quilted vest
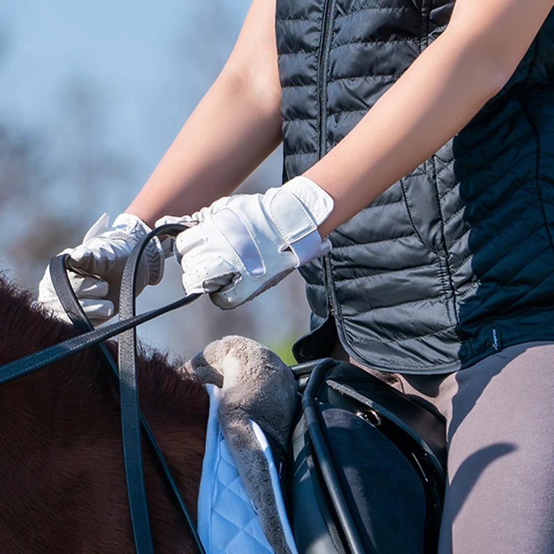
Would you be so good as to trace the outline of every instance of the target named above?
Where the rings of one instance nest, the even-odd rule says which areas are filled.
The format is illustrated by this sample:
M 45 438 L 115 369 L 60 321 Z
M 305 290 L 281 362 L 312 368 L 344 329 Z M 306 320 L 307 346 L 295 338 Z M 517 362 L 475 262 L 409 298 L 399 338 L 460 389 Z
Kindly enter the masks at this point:
M 325 110 L 325 105 L 327 103 L 326 95 L 326 86 L 327 86 L 327 57 L 328 57 L 328 48 L 329 48 L 329 33 L 331 30 L 331 15 L 332 15 L 332 6 L 334 0 L 325 0 L 323 3 L 323 27 L 321 28 L 321 40 L 319 43 L 319 60 L 318 60 L 318 69 L 317 69 L 317 88 L 318 88 L 318 99 L 319 99 L 319 152 L 318 159 L 321 159 L 325 156 L 327 151 L 327 141 L 326 141 L 326 120 L 327 114 Z M 323 269 L 325 277 L 325 289 L 327 292 L 327 301 L 329 305 L 329 312 L 332 317 L 334 317 L 334 307 L 332 303 L 331 296 L 331 261 L 329 254 L 323 256 Z

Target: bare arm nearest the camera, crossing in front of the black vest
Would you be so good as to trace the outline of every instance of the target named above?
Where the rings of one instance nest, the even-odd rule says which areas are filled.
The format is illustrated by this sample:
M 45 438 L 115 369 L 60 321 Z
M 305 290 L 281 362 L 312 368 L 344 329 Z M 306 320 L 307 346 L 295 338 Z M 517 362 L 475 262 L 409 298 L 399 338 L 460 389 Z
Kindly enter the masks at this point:
M 310 170 L 335 201 L 327 235 L 434 154 L 515 71 L 553 0 L 458 0 L 445 32 Z

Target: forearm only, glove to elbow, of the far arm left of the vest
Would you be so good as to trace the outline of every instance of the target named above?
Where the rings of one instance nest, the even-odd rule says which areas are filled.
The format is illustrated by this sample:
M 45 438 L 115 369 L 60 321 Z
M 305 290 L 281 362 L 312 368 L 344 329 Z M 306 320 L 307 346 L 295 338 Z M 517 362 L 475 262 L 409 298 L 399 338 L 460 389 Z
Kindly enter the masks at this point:
M 231 81 L 231 82 L 229 82 Z M 280 142 L 278 110 L 257 109 L 240 79 L 215 82 L 127 208 L 152 226 L 228 195 Z

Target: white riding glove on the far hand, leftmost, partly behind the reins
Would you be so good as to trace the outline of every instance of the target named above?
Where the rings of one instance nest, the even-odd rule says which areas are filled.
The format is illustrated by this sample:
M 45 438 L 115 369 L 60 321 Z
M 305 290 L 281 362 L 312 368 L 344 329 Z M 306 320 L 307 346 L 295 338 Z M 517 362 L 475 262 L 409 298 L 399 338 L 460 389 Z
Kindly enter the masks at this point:
M 150 233 L 150 227 L 136 215 L 122 213 L 108 227 L 109 215 L 103 214 L 84 235 L 83 242 L 69 253 L 68 271 L 71 286 L 84 312 L 94 325 L 104 323 L 118 312 L 119 289 L 125 262 L 135 245 Z M 136 294 L 146 285 L 157 285 L 163 276 L 166 253 L 158 238 L 146 247 L 139 264 Z M 39 283 L 38 303 L 49 307 L 56 316 L 67 321 L 57 299 L 50 271 L 46 267 Z

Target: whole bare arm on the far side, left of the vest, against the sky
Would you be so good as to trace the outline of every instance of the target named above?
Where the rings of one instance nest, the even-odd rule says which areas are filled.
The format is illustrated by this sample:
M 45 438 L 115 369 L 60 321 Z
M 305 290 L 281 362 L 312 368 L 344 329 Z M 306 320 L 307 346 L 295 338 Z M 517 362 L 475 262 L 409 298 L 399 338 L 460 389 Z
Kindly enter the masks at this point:
M 228 195 L 278 146 L 275 0 L 253 0 L 222 73 L 127 208 L 150 226 Z

